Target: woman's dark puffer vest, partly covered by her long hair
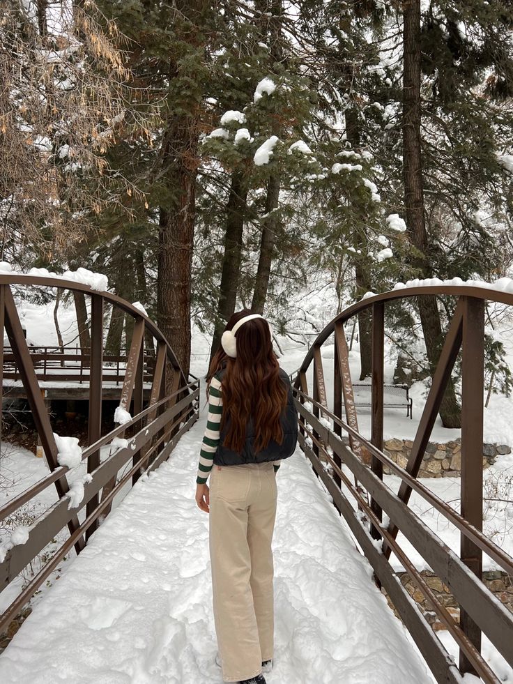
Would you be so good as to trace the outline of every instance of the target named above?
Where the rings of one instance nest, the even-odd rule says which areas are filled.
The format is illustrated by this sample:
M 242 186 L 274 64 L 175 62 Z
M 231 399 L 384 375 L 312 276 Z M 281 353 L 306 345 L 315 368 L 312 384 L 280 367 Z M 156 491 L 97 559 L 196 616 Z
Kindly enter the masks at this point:
M 226 368 L 215 374 L 215 377 L 222 381 Z M 255 439 L 253 420 L 250 418 L 246 426 L 246 443 L 241 453 L 232 451 L 223 446 L 224 438 L 229 429 L 229 419 L 221 430 L 220 443 L 214 455 L 214 463 L 218 466 L 236 466 L 244 463 L 263 463 L 267 461 L 277 461 L 288 458 L 296 450 L 298 441 L 298 412 L 294 407 L 293 395 L 289 376 L 280 368 L 280 378 L 284 381 L 287 388 L 286 406 L 282 411 L 280 423 L 283 428 L 283 441 L 278 444 L 271 439 L 268 446 L 255 453 L 253 443 Z

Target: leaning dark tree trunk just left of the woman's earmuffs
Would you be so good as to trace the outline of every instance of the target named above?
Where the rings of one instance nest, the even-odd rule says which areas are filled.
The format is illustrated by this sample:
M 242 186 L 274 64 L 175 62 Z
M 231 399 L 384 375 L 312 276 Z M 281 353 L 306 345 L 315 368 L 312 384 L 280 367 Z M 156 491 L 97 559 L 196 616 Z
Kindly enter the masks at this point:
M 246 200 L 247 181 L 242 172 L 233 172 L 227 203 L 227 230 L 224 234 L 221 285 L 210 360 L 221 343 L 224 325 L 235 311 L 240 280 Z

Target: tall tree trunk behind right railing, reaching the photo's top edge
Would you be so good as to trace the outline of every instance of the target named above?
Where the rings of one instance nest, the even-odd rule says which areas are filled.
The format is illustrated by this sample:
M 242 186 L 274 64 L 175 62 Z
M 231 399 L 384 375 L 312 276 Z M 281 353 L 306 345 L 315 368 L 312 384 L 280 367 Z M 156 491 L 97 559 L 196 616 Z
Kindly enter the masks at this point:
M 406 224 L 411 242 L 422 257 L 418 267 L 427 277 L 427 231 L 424 217 L 424 192 L 422 183 L 421 109 L 420 109 L 420 0 L 403 3 L 404 64 L 403 64 L 403 169 L 404 204 Z M 443 342 L 440 312 L 434 297 L 419 297 L 420 321 L 431 376 L 438 363 Z M 445 427 L 461 427 L 461 413 L 450 380 L 440 408 Z

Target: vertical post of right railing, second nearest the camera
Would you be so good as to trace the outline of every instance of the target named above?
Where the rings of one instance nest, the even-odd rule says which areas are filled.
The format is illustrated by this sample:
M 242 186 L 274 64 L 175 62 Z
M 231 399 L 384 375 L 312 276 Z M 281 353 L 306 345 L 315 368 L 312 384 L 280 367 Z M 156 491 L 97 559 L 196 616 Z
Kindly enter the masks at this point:
M 372 422 L 371 442 L 383 451 L 383 354 L 385 337 L 385 305 L 376 302 L 372 305 Z M 383 463 L 372 456 L 372 472 L 383 480 Z M 371 498 L 374 515 L 381 521 L 381 507 Z M 374 525 L 371 526 L 374 539 L 381 539 L 381 534 Z

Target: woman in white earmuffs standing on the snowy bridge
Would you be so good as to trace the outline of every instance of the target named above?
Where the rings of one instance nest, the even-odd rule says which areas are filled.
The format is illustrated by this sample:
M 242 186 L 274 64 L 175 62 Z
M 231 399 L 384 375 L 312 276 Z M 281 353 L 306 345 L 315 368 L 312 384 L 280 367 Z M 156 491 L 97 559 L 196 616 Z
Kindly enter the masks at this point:
M 262 670 L 272 667 L 274 646 L 276 472 L 296 448 L 298 417 L 260 314 L 233 314 L 207 383 L 196 501 L 210 512 L 218 664 L 226 682 L 266 684 Z

